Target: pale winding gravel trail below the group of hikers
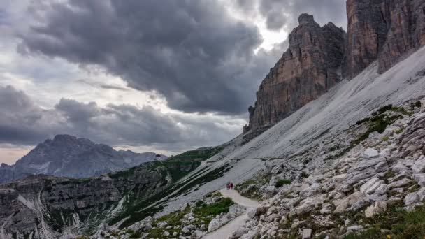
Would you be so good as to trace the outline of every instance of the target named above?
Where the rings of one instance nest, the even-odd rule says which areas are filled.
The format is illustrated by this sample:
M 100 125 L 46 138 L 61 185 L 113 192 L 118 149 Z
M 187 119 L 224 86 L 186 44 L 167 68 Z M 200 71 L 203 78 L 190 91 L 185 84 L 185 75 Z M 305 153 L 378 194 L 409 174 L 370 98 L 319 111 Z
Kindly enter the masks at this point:
M 261 206 L 260 202 L 253 201 L 250 198 L 245 198 L 244 196 L 241 196 L 238 194 L 238 191 L 236 190 L 227 190 L 222 189 L 220 190 L 220 193 L 223 194 L 226 198 L 231 198 L 233 202 L 238 203 L 239 205 L 244 206 L 247 208 L 246 212 L 243 215 L 240 215 L 239 217 L 236 217 L 236 219 L 233 219 L 228 224 L 220 227 L 219 229 L 212 231 L 211 233 L 208 233 L 206 236 L 204 236 L 204 239 L 227 239 L 229 238 L 233 232 L 238 230 L 245 222 L 247 221 L 247 212 L 250 211 L 252 208 L 258 208 Z

